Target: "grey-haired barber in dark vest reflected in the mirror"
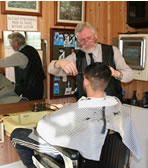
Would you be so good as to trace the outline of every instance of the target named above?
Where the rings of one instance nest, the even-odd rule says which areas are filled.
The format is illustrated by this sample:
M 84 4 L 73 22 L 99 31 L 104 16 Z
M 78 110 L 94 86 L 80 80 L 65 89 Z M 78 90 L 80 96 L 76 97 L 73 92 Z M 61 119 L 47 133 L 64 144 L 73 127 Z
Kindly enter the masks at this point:
M 15 92 L 29 100 L 43 98 L 45 74 L 37 50 L 26 44 L 25 37 L 18 32 L 8 36 L 16 51 L 11 56 L 0 59 L 0 67 L 14 67 Z

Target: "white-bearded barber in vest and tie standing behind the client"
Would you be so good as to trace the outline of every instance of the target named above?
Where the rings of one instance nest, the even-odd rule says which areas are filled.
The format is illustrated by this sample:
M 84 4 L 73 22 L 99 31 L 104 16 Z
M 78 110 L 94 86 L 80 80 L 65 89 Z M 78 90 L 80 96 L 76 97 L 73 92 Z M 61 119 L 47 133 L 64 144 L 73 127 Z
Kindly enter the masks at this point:
M 48 66 L 48 72 L 63 76 L 76 76 L 77 98 L 81 98 L 85 92 L 83 89 L 83 72 L 87 65 L 93 62 L 103 62 L 110 67 L 112 78 L 106 88 L 107 95 L 116 96 L 122 101 L 121 82 L 133 80 L 133 72 L 125 63 L 120 51 L 111 45 L 97 43 L 97 34 L 92 25 L 80 23 L 75 29 L 75 35 L 81 50 L 75 51 L 62 60 L 53 60 Z

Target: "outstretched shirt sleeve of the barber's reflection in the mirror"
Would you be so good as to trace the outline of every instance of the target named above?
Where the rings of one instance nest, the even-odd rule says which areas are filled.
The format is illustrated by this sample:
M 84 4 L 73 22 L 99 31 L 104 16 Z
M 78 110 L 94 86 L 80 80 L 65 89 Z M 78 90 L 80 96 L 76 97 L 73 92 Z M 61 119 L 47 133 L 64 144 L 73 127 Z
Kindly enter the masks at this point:
M 0 67 L 20 67 L 25 69 L 28 64 L 28 58 L 21 52 L 15 52 L 11 56 L 0 59 Z

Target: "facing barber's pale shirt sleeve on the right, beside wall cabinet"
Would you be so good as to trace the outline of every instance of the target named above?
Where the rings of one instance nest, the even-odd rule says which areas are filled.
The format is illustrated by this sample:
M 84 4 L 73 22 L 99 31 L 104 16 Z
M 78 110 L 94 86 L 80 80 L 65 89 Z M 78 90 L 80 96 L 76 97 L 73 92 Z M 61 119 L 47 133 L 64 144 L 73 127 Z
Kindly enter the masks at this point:
M 116 70 L 122 72 L 123 77 L 121 82 L 128 83 L 133 80 L 133 71 L 132 69 L 126 64 L 123 56 L 121 55 L 119 49 L 113 46 L 114 51 L 114 60 L 116 65 Z

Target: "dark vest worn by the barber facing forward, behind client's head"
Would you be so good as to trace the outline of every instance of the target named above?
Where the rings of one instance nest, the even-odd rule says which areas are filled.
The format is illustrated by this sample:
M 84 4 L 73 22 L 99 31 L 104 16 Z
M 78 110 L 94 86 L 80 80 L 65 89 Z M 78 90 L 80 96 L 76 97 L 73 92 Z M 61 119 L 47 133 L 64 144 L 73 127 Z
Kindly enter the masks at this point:
M 102 46 L 102 62 L 107 65 L 111 66 L 114 69 L 116 69 L 115 62 L 114 62 L 114 52 L 111 45 L 105 45 L 101 44 Z M 84 72 L 87 62 L 86 62 L 86 56 L 83 51 L 76 52 L 76 66 L 78 69 L 78 72 Z M 77 83 L 77 94 L 76 97 L 79 99 L 82 96 L 85 96 L 85 92 L 83 89 L 83 74 L 79 73 L 76 77 L 76 83 Z M 105 89 L 107 95 L 110 96 L 116 96 L 118 97 L 122 102 L 122 88 L 121 88 L 121 82 L 114 77 L 111 77 L 111 80 Z

